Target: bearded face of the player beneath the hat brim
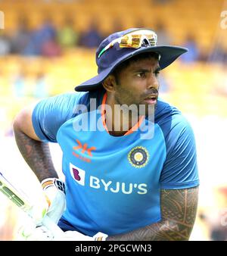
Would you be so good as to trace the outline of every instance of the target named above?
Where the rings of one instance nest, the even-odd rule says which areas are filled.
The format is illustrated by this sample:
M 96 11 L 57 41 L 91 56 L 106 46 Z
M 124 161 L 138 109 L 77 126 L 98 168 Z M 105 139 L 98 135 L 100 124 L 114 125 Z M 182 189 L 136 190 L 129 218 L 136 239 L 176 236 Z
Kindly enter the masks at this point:
M 136 105 L 137 108 L 144 105 L 148 115 L 148 105 L 154 109 L 157 104 L 159 70 L 160 66 L 155 58 L 132 62 L 120 70 L 115 88 L 115 104 Z

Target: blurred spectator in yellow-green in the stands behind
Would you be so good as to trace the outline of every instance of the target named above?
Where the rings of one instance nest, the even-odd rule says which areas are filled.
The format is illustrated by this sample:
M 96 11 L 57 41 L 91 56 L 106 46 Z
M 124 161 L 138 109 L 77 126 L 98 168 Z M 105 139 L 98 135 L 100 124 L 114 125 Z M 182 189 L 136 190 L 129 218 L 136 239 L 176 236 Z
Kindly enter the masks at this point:
M 73 20 L 70 18 L 65 21 L 64 27 L 58 30 L 58 42 L 64 48 L 76 46 L 79 34 L 73 28 Z

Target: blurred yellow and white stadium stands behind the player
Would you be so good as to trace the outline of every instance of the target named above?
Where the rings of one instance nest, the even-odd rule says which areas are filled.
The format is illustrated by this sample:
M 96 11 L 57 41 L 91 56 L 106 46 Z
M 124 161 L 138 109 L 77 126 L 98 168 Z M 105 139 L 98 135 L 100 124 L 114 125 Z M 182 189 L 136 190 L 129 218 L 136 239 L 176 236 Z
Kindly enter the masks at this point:
M 149 27 L 158 44 L 189 49 L 161 72 L 160 98 L 185 114 L 196 137 L 201 188 L 191 240 L 227 240 L 226 0 L 0 0 L 0 171 L 38 198 L 12 120 L 24 106 L 95 76 L 95 48 L 129 27 Z M 62 176 L 58 145 L 51 153 Z M 0 240 L 15 239 L 23 218 L 1 193 Z

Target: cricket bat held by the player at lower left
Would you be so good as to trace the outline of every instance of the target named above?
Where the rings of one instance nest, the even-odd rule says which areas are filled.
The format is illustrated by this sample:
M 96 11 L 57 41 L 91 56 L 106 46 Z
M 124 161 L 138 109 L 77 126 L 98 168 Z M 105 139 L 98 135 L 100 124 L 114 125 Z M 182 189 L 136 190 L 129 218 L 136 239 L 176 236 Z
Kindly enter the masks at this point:
M 20 209 L 28 213 L 33 205 L 27 196 L 12 185 L 3 175 L 0 173 L 0 191 L 8 197 L 14 204 L 16 204 Z M 31 216 L 30 216 L 31 217 Z M 54 239 L 63 236 L 64 232 L 60 227 L 54 223 L 48 216 L 45 216 L 42 220 L 42 224 L 51 231 L 54 235 Z

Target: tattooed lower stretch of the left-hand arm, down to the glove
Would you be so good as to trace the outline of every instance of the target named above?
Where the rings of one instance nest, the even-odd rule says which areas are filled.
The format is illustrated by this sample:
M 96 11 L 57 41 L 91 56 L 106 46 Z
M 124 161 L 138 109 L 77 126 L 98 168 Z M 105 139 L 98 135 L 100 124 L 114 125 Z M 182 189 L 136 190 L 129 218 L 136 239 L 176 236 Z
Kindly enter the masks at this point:
M 48 143 L 31 139 L 20 130 L 14 130 L 14 136 L 21 155 L 40 182 L 49 177 L 58 178 Z

